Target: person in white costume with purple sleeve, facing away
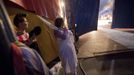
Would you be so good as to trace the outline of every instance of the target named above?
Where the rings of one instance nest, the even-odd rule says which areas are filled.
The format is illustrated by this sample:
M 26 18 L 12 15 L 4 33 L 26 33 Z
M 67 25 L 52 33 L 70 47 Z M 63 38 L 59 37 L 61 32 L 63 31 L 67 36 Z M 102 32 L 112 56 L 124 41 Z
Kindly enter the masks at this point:
M 64 20 L 62 18 L 56 18 L 55 26 L 58 28 L 54 31 L 55 37 L 59 44 L 59 57 L 64 68 L 64 73 L 67 75 L 67 64 L 71 70 L 72 75 L 77 75 L 77 55 L 74 47 L 73 33 L 63 28 Z

